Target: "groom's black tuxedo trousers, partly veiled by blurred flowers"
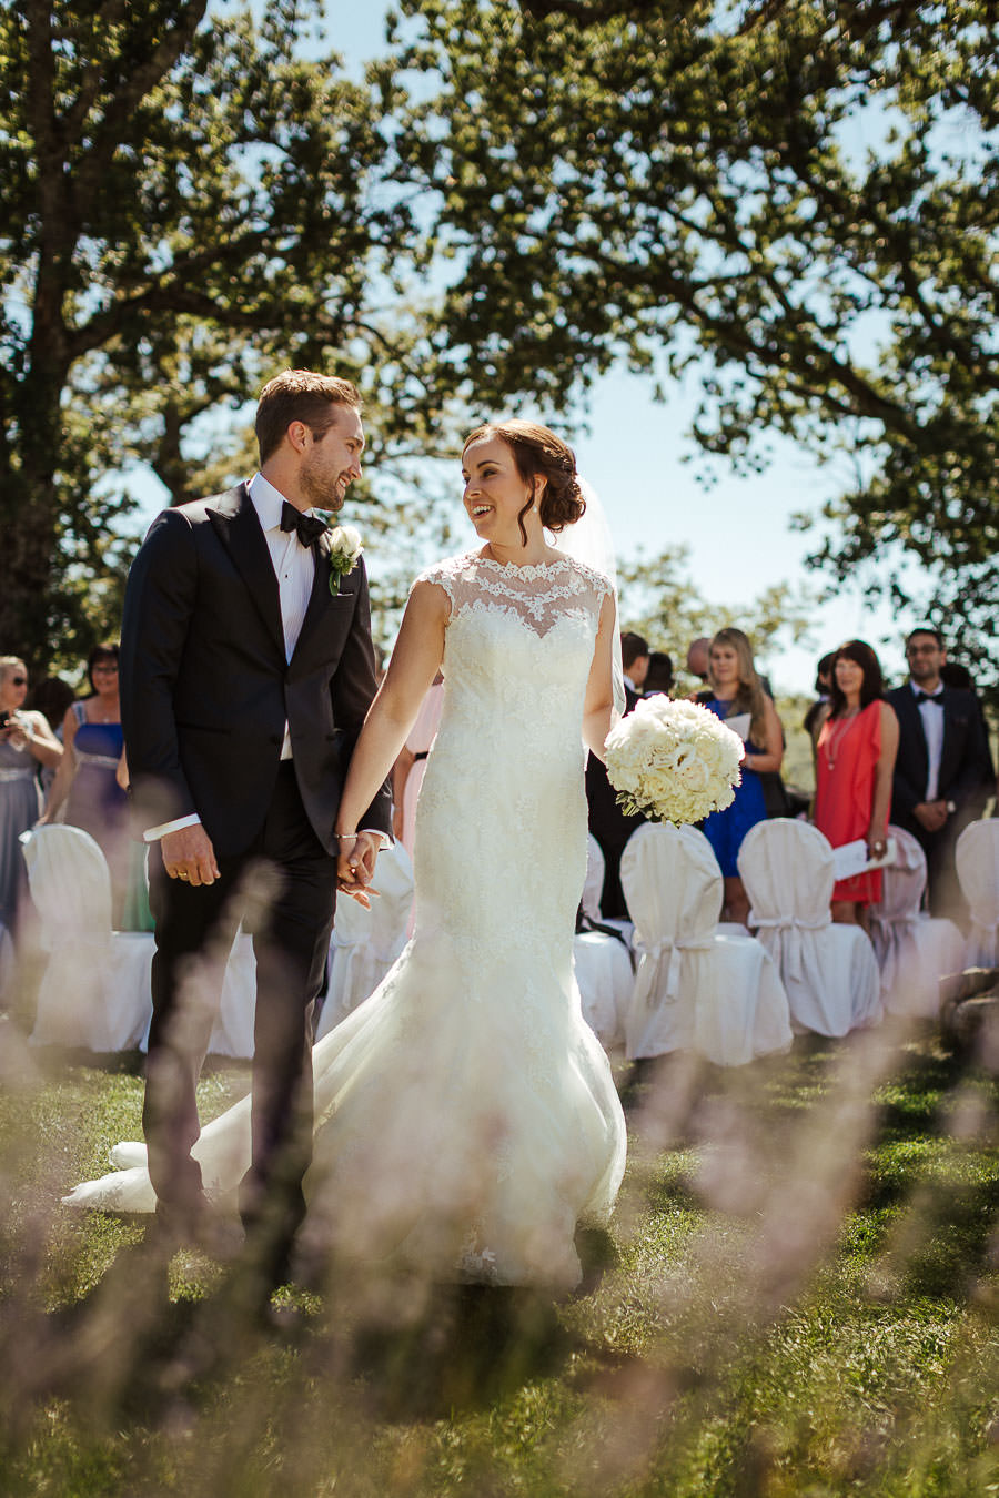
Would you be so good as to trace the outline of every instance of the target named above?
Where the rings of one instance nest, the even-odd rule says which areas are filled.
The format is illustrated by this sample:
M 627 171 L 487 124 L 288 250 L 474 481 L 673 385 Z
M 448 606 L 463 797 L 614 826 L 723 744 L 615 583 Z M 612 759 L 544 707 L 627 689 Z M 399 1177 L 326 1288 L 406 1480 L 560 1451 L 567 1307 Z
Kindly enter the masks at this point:
M 335 860 L 316 837 L 291 761 L 282 761 L 264 827 L 220 879 L 192 887 L 169 879 L 150 855 L 156 917 L 153 1022 L 142 1125 L 157 1212 L 178 1225 L 204 1204 L 195 1086 L 219 1010 L 225 963 L 240 920 L 253 929 L 256 1022 L 252 1162 L 240 1209 L 252 1228 L 264 1215 L 291 1243 L 306 1203 L 312 1159 L 312 1010 L 322 987 L 335 888 Z

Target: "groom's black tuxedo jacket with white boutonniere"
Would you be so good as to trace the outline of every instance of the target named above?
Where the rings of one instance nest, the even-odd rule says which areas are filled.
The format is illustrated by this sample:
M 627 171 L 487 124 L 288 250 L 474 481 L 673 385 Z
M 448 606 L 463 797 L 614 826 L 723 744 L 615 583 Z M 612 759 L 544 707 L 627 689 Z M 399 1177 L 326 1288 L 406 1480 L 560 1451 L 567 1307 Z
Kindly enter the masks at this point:
M 328 852 L 350 750 L 376 689 L 364 562 L 330 590 L 321 539 L 291 662 L 277 577 L 240 484 L 157 515 L 121 623 L 121 724 L 141 825 L 198 812 L 222 857 L 271 804 L 285 721 L 309 819 Z M 334 581 L 335 586 L 335 581 Z M 388 831 L 383 788 L 362 821 Z

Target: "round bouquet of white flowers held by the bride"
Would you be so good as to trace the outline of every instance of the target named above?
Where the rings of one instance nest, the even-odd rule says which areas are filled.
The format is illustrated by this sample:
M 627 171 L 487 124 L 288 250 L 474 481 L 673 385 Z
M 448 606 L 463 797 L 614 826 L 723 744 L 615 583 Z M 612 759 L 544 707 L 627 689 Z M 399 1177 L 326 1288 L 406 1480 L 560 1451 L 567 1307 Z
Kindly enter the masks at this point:
M 628 813 L 680 827 L 731 806 L 743 753 L 707 707 L 646 697 L 607 736 L 607 774 Z

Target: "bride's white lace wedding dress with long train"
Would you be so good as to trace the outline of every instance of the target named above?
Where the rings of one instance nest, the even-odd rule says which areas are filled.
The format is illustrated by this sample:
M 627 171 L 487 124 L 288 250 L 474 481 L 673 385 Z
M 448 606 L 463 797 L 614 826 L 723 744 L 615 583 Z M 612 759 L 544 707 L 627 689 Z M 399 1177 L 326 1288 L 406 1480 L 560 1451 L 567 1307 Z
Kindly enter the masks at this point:
M 625 1119 L 572 972 L 586 876 L 581 721 L 607 580 L 568 557 L 478 554 L 422 574 L 445 589 L 445 706 L 416 810 L 415 935 L 313 1052 L 306 1237 L 494 1284 L 571 1287 L 577 1222 L 608 1219 Z M 377 873 L 374 878 L 377 887 Z M 193 1150 L 235 1200 L 249 1100 Z M 132 1168 L 81 1206 L 150 1210 Z

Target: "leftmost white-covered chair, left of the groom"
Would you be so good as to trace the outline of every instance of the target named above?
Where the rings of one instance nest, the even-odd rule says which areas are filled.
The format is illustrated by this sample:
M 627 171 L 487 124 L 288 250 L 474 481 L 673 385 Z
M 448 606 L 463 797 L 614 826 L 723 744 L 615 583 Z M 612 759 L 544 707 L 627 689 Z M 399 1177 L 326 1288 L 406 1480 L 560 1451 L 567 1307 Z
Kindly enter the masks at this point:
M 94 1052 L 138 1046 L 151 1013 L 153 936 L 111 930 L 111 875 L 90 833 L 46 825 L 21 843 L 49 954 L 31 1044 Z

